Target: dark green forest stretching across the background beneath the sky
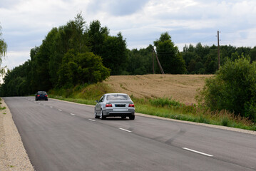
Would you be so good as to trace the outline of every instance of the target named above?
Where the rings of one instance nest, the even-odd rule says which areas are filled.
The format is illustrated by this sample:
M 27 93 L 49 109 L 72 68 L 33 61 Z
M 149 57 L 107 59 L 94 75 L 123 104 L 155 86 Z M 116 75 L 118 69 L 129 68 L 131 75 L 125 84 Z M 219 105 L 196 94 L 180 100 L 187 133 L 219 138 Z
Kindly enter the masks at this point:
M 154 53 L 155 51 L 155 53 Z M 37 90 L 71 88 L 104 81 L 115 75 L 161 73 L 214 74 L 217 71 L 217 46 L 185 45 L 179 51 L 169 33 L 147 48 L 128 49 L 122 33 L 111 36 L 100 21 L 86 25 L 77 14 L 66 25 L 52 28 L 41 46 L 31 49 L 30 60 L 7 71 L 1 84 L 1 96 L 29 95 Z M 220 66 L 227 59 L 247 56 L 256 60 L 256 46 L 220 46 Z

